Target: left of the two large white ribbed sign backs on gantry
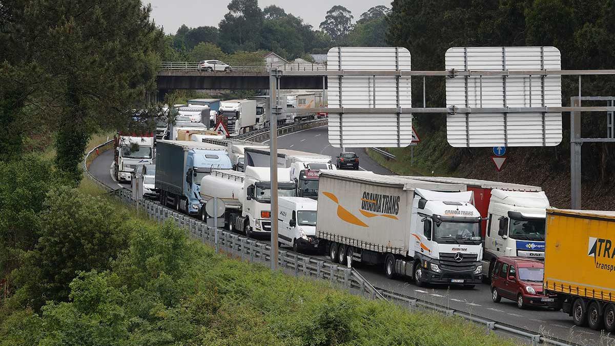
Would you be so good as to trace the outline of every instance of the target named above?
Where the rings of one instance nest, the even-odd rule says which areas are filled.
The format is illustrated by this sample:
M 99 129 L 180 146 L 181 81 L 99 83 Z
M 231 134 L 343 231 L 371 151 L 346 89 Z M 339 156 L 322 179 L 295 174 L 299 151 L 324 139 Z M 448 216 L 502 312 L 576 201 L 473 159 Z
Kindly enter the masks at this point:
M 371 108 L 369 113 L 330 113 L 333 147 L 407 147 L 412 142 L 410 52 L 402 47 L 333 47 L 327 54 L 329 108 Z M 371 71 L 357 75 L 357 71 Z M 352 74 L 355 72 L 355 74 Z M 397 75 L 395 75 L 397 72 Z M 361 74 L 359 72 L 359 74 Z M 389 108 L 379 112 L 378 108 Z M 397 112 L 391 113 L 396 108 Z

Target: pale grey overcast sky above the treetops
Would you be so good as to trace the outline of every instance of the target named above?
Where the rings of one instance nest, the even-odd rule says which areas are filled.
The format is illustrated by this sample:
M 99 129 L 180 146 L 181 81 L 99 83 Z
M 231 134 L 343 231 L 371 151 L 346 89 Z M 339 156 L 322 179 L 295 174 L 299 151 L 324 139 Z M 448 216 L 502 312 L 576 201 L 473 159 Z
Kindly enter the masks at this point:
M 218 26 L 228 13 L 226 6 L 230 0 L 143 0 L 143 3 L 147 2 L 152 5 L 152 17 L 156 24 L 164 26 L 165 33 L 174 34 L 182 24 L 193 28 Z M 286 13 L 301 17 L 304 22 L 318 28 L 333 5 L 351 10 L 354 20 L 357 20 L 370 7 L 391 7 L 391 0 L 261 0 L 258 4 L 261 8 L 269 5 L 282 7 Z

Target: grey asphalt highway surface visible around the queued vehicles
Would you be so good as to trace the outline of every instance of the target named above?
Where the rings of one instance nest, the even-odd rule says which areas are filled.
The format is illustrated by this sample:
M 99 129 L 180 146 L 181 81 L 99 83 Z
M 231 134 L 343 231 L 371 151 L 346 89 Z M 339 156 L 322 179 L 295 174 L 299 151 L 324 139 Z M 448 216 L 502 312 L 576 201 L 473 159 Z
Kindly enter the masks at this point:
M 321 153 L 335 158 L 340 149 L 331 147 L 327 140 L 327 127 L 316 127 L 294 134 L 282 135 L 278 140 L 279 148 Z M 365 151 L 357 148 L 347 148 L 355 151 L 360 158 L 360 167 L 366 171 L 378 174 L 391 174 L 371 160 Z M 113 151 L 106 151 L 98 156 L 90 165 L 90 172 L 110 187 L 127 187 L 118 184 L 111 177 Z M 319 255 L 320 259 L 327 257 Z M 389 280 L 384 276 L 383 268 L 371 265 L 355 265 L 355 268 L 370 281 L 373 286 L 386 288 L 406 296 L 428 300 L 454 310 L 510 324 L 519 328 L 546 334 L 558 339 L 568 340 L 581 345 L 615 345 L 615 338 L 602 336 L 600 332 L 589 328 L 574 326 L 572 318 L 563 312 L 553 312 L 544 308 L 528 308 L 520 310 L 512 300 L 502 299 L 499 304 L 491 300 L 490 287 L 487 284 L 478 285 L 473 289 L 460 287 L 432 286 L 419 288 L 408 280 Z

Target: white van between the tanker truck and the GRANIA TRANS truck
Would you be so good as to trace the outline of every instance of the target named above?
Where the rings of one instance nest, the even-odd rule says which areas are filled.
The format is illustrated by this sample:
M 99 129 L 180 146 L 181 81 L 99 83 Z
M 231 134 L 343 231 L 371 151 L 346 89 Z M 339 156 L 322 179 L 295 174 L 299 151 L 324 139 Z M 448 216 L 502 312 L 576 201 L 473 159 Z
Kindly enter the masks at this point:
M 306 197 L 281 197 L 278 201 L 278 237 L 282 244 L 293 251 L 318 249 L 316 235 L 316 209 L 314 199 Z

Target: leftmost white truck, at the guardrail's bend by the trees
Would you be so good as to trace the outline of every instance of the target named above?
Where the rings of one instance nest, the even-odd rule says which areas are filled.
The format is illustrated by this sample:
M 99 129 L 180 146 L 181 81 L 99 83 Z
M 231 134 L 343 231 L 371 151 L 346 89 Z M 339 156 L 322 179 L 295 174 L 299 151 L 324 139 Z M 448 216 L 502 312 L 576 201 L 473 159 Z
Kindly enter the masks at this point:
M 119 132 L 113 139 L 115 153 L 113 174 L 118 182 L 130 182 L 132 172 L 140 164 L 154 160 L 154 134 Z

